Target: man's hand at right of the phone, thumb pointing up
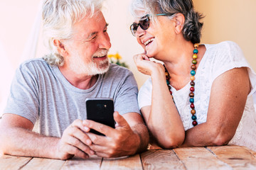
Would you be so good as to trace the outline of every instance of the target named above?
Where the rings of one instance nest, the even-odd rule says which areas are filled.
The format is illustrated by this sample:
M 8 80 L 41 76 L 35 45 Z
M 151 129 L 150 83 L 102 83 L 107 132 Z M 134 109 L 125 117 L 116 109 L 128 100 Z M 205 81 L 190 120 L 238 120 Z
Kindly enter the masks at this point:
M 114 120 L 117 122 L 115 129 L 93 120 L 83 121 L 83 125 L 87 128 L 97 130 L 105 135 L 87 133 L 92 140 L 92 145 L 89 145 L 90 149 L 94 150 L 99 157 L 122 157 L 135 154 L 139 148 L 141 137 L 130 128 L 127 121 L 118 112 L 114 112 Z

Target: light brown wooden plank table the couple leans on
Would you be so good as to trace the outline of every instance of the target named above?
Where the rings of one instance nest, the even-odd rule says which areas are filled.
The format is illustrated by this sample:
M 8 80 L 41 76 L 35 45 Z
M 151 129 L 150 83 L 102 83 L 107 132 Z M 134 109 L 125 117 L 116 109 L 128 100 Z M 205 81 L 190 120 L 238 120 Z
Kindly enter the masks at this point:
M 0 157 L 0 169 L 256 169 L 256 152 L 239 146 L 188 147 L 150 149 L 116 159 L 66 161 L 4 155 Z

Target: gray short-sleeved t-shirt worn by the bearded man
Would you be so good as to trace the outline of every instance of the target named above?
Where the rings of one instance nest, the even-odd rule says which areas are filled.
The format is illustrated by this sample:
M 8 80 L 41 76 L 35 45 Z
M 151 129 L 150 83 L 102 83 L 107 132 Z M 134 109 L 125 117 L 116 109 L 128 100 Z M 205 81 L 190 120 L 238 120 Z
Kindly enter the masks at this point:
M 4 113 L 21 115 L 38 125 L 43 135 L 61 137 L 75 119 L 87 118 L 86 98 L 112 98 L 121 115 L 139 112 L 137 83 L 132 72 L 110 64 L 90 89 L 78 89 L 65 79 L 58 67 L 43 59 L 23 62 L 16 70 Z

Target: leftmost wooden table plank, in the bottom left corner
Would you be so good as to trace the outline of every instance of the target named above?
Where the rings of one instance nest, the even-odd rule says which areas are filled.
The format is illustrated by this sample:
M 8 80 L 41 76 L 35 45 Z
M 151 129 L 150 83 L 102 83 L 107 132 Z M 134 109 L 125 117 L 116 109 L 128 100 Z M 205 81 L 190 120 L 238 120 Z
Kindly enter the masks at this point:
M 21 169 L 31 159 L 31 157 L 14 157 L 5 154 L 0 157 L 0 169 Z

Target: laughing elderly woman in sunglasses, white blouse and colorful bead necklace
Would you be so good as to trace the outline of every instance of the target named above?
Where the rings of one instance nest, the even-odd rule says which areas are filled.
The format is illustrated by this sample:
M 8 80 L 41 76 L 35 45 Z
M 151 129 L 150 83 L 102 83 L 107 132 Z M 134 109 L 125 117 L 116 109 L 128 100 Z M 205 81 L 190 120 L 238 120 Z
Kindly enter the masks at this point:
M 256 75 L 240 47 L 198 45 L 203 23 L 192 0 L 134 0 L 132 14 L 132 35 L 144 48 L 134 62 L 150 76 L 139 91 L 139 108 L 156 143 L 256 151 Z

